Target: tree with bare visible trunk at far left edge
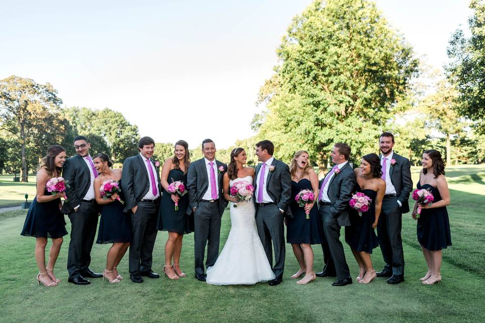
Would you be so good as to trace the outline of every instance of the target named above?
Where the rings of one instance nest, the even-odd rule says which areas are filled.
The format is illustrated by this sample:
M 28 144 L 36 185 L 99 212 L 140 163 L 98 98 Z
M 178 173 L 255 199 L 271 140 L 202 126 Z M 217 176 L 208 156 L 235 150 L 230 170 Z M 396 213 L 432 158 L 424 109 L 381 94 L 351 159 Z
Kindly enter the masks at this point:
M 51 145 L 64 133 L 60 121 L 62 100 L 49 84 L 10 76 L 0 80 L 0 126 L 18 142 L 21 156 L 21 177 L 28 181 L 28 148 Z M 38 158 L 38 157 L 37 157 Z

